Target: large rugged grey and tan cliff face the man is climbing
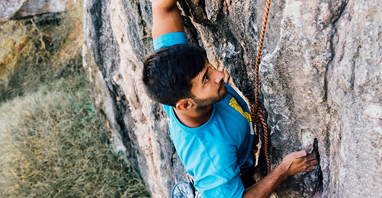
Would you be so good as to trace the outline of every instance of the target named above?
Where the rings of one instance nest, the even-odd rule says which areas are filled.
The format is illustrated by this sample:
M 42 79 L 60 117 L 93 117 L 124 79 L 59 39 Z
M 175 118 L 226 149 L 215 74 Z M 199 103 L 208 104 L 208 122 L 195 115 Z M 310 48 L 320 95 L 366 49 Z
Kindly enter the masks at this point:
M 185 178 L 162 105 L 141 83 L 152 51 L 151 1 L 84 0 L 83 63 L 109 139 L 154 197 Z M 254 63 L 265 0 L 181 0 L 193 45 L 254 101 Z M 382 2 L 271 3 L 260 96 L 274 168 L 309 148 L 319 165 L 289 177 L 274 196 L 377 198 L 382 189 Z M 261 138 L 263 135 L 261 135 Z M 260 156 L 257 176 L 264 174 Z

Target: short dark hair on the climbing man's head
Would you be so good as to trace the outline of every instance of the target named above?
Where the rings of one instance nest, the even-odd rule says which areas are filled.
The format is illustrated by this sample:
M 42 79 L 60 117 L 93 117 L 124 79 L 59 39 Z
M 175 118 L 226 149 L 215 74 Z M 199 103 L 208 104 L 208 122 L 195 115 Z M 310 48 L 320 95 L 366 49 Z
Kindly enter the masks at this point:
M 191 80 L 207 61 L 201 47 L 174 45 L 154 51 L 143 64 L 143 85 L 148 97 L 174 106 L 180 99 L 191 98 Z

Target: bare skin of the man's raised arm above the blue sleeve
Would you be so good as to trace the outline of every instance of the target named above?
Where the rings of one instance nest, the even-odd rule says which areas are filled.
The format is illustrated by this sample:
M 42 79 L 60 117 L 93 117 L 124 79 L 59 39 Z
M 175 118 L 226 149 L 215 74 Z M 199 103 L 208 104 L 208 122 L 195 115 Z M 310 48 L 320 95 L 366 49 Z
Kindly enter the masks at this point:
M 177 0 L 152 0 L 152 39 L 171 32 L 184 32 Z

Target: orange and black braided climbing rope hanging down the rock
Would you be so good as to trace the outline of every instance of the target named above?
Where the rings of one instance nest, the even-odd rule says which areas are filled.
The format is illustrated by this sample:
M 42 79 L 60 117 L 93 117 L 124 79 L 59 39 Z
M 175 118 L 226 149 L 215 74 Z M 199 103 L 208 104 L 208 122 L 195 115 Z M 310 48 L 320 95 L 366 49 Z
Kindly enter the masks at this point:
M 266 122 L 264 117 L 262 116 L 262 109 L 258 105 L 258 100 L 259 100 L 258 99 L 258 64 L 260 63 L 261 48 L 262 48 L 262 42 L 264 40 L 265 26 L 266 26 L 266 21 L 268 19 L 269 6 L 270 6 L 270 0 L 267 0 L 265 13 L 264 13 L 264 19 L 262 21 L 261 35 L 260 35 L 260 41 L 258 42 L 257 57 L 256 57 L 256 63 L 255 63 L 255 108 L 252 108 L 251 110 L 251 116 L 256 118 L 255 120 L 257 123 L 258 123 L 258 119 L 260 119 L 262 123 L 262 127 L 264 129 L 264 150 L 265 150 L 265 158 L 266 158 L 268 174 L 270 173 L 270 159 L 269 159 L 269 150 L 268 150 L 269 139 L 268 139 L 268 129 L 266 127 Z

